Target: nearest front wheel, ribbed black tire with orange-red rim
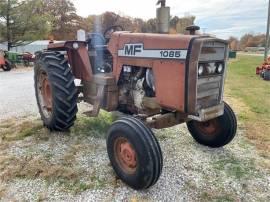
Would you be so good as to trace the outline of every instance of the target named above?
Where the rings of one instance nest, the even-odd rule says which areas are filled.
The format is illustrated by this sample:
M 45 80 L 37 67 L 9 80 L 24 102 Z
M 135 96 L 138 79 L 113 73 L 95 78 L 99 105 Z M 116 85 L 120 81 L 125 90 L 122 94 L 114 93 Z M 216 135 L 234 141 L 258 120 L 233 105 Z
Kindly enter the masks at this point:
M 133 189 L 147 189 L 158 181 L 162 152 L 153 132 L 141 121 L 125 117 L 113 123 L 107 152 L 116 174 Z

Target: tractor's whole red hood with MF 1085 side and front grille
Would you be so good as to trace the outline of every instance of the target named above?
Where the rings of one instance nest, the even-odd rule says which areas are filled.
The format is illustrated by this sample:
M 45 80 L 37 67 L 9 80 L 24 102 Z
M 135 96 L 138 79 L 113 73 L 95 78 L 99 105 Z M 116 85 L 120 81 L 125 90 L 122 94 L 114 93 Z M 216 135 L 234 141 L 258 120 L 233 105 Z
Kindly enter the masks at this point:
M 192 114 L 198 120 L 223 113 L 226 41 L 200 35 L 116 32 L 108 49 L 116 81 L 125 66 L 151 68 L 161 106 Z M 201 112 L 212 106 L 218 108 L 211 109 L 210 115 Z

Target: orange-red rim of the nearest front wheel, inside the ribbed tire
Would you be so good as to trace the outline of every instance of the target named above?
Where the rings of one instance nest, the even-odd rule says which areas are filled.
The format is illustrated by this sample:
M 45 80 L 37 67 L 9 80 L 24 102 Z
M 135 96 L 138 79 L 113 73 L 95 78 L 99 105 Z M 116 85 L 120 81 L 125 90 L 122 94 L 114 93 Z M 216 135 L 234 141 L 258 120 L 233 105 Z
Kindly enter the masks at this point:
M 119 167 L 127 174 L 134 174 L 137 169 L 137 153 L 128 139 L 119 137 L 114 143 L 114 156 Z

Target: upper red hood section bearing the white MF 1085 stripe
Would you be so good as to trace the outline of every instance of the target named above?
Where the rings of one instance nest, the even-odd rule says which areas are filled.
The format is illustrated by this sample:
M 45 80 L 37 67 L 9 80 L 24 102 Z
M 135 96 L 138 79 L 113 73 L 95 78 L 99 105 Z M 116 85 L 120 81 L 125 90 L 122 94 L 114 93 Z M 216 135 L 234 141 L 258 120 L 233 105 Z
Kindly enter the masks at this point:
M 198 36 L 116 32 L 109 43 L 119 57 L 185 60 L 190 41 Z

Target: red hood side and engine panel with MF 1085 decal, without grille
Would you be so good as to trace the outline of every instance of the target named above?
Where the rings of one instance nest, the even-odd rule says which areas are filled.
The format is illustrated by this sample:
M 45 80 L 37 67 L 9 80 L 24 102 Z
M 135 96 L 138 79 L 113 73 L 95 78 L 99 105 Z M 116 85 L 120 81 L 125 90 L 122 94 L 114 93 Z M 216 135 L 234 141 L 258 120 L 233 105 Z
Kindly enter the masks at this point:
M 109 50 L 114 58 L 116 81 L 124 65 L 152 68 L 158 103 L 165 108 L 184 112 L 187 53 L 194 37 L 114 33 Z

